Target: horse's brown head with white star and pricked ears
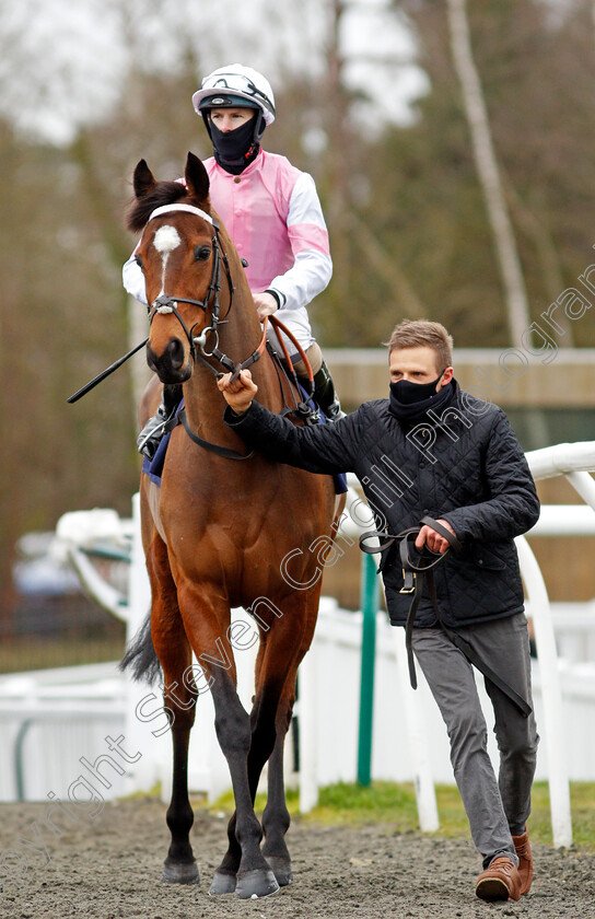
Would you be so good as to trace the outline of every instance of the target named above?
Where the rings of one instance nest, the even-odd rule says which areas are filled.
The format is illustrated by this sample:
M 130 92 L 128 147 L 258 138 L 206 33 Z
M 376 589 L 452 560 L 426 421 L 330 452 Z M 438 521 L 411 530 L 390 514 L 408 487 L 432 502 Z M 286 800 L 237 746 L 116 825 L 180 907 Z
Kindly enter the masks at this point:
M 209 201 L 209 176 L 188 153 L 184 185 L 156 182 L 144 160 L 135 170 L 130 230 L 142 230 L 142 268 L 151 319 L 147 360 L 163 383 L 192 372 L 195 338 L 218 311 L 221 252 Z

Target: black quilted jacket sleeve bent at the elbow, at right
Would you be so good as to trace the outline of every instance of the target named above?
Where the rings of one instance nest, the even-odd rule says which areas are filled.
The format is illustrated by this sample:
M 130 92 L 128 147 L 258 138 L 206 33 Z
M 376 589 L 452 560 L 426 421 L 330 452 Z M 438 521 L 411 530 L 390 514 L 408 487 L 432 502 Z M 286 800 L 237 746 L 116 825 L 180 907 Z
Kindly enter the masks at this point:
M 530 530 L 539 499 L 527 461 L 503 411 L 498 410 L 483 444 L 486 500 L 444 514 L 459 539 L 498 542 Z

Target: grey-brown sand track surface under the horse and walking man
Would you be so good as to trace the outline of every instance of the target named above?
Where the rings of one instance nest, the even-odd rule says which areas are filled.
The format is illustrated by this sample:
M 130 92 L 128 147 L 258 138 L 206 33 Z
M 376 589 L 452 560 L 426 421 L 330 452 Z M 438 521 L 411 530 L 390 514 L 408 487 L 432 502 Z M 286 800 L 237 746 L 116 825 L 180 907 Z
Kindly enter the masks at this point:
M 46 811 L 0 804 L 1 919 L 595 919 L 591 851 L 536 846 L 530 894 L 485 904 L 474 893 L 480 864 L 468 839 L 295 819 L 288 834 L 293 885 L 267 899 L 240 900 L 208 896 L 225 850 L 222 816 L 197 809 L 192 846 L 201 883 L 185 887 L 159 883 L 168 845 L 159 801 L 106 803 L 77 823 L 56 816 L 56 833 L 42 823 Z

